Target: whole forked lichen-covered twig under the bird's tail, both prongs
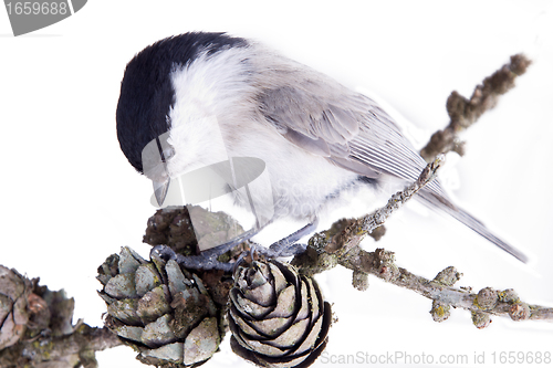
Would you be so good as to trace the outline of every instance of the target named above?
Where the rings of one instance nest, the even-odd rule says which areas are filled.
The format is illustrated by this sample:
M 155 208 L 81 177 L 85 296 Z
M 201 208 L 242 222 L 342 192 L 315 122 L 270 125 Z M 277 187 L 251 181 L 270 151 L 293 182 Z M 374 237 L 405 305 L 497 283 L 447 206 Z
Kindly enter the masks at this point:
M 510 316 L 513 320 L 553 320 L 553 308 L 523 303 L 512 290 L 495 291 L 486 287 L 474 294 L 470 288 L 452 287 L 461 276 L 455 267 L 447 267 L 434 280 L 427 280 L 398 267 L 393 252 L 383 249 L 366 252 L 361 249 L 359 242 L 366 233 L 384 223 L 400 204 L 428 183 L 436 176 L 439 164 L 440 159 L 429 164 L 414 185 L 394 194 L 384 208 L 362 219 L 341 220 L 330 230 L 313 235 L 306 251 L 295 256 L 292 264 L 306 275 L 321 273 L 340 264 L 353 270 L 353 284 L 362 291 L 368 286 L 367 275 L 373 274 L 432 299 L 430 313 L 437 322 L 448 318 L 451 306 L 470 311 L 472 322 L 479 328 L 490 324 L 491 315 Z

